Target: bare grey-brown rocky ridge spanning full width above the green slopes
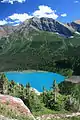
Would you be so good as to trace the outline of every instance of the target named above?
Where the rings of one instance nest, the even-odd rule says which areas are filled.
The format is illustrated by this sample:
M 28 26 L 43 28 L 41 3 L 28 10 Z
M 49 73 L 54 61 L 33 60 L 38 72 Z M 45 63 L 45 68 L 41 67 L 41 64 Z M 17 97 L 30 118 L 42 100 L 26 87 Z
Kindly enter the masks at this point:
M 79 20 L 64 24 L 64 23 L 61 23 L 52 18 L 33 17 L 33 18 L 25 20 L 23 23 L 21 23 L 18 26 L 1 25 L 0 26 L 0 29 L 1 29 L 0 37 L 9 36 L 14 31 L 20 29 L 21 26 L 25 26 L 25 25 L 27 25 L 29 28 L 33 27 L 33 29 L 35 29 L 35 30 L 37 29 L 37 30 L 41 30 L 41 31 L 56 32 L 65 37 L 70 37 L 73 35 L 75 30 L 78 31 L 77 27 L 79 26 L 79 23 L 77 21 L 79 21 Z M 73 24 L 76 24 L 75 27 L 73 26 Z

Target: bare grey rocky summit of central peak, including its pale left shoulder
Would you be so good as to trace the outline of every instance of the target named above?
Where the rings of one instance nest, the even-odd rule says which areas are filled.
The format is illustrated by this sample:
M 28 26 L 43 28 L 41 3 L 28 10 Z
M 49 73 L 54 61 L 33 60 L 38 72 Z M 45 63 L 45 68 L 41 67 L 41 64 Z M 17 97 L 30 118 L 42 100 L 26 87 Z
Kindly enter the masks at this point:
M 26 28 L 25 30 L 41 30 L 48 32 L 55 32 L 62 36 L 70 37 L 73 35 L 74 30 L 65 24 L 60 23 L 52 18 L 36 18 L 33 17 L 29 20 L 26 20 L 23 24 L 21 24 L 18 29 Z M 17 30 L 18 30 L 17 29 Z

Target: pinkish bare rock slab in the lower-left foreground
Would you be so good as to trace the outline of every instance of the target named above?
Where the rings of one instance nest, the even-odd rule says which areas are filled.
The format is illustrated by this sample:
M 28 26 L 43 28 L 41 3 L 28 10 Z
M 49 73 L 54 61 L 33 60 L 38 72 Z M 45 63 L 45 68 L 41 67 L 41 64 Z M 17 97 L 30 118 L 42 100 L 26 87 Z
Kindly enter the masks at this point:
M 0 94 L 0 103 L 7 105 L 10 109 L 17 111 L 20 115 L 29 116 L 35 120 L 28 107 L 20 98 Z

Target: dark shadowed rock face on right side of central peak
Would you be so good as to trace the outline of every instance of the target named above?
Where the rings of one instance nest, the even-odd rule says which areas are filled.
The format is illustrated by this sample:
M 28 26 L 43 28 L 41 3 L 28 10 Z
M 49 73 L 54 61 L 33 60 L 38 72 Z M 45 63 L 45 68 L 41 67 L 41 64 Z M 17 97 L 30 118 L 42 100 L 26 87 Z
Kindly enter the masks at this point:
M 39 30 L 56 32 L 66 37 L 73 35 L 69 28 L 52 18 L 32 18 L 31 25 Z

